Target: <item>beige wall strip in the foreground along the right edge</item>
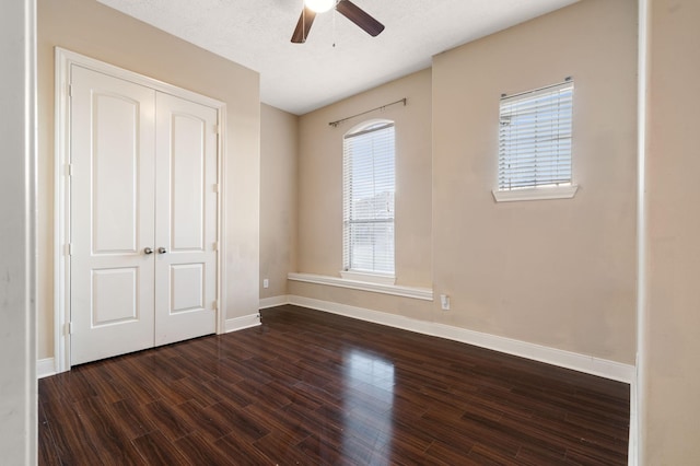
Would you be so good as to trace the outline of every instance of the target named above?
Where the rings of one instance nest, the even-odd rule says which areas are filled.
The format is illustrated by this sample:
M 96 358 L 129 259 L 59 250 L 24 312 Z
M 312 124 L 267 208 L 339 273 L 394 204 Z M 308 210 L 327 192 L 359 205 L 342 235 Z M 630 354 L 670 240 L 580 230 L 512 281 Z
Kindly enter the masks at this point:
M 700 458 L 700 2 L 652 0 L 641 463 Z

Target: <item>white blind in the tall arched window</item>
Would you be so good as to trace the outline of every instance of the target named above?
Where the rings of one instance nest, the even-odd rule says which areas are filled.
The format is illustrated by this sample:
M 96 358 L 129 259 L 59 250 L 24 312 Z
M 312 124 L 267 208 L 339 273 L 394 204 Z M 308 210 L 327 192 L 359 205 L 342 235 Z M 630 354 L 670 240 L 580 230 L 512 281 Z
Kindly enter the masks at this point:
M 343 269 L 394 275 L 394 124 L 343 139 Z

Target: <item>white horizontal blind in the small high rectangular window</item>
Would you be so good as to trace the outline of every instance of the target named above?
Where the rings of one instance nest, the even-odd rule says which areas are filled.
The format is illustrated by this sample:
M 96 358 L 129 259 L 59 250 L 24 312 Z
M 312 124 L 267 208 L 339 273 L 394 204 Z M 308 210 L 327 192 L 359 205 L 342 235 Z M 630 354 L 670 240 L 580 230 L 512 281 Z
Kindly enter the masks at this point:
M 573 81 L 501 100 L 499 190 L 571 185 Z

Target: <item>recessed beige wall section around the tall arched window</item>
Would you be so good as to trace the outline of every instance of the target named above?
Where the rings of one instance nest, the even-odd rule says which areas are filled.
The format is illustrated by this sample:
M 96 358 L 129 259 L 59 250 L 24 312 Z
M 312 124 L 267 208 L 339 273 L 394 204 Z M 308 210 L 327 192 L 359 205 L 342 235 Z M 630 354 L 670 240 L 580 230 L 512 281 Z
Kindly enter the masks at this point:
M 300 118 L 298 271 L 338 276 L 342 268 L 342 137 L 362 121 L 385 118 L 396 121 L 397 283 L 430 286 L 430 92 L 431 72 L 423 70 Z M 328 125 L 404 97 L 407 106 L 388 106 L 337 128 Z

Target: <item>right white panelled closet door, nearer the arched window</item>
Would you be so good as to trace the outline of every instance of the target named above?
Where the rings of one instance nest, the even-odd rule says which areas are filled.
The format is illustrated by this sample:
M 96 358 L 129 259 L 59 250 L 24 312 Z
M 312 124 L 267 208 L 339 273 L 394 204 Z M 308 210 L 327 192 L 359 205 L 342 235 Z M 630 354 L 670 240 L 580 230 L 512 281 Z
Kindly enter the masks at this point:
M 156 96 L 155 345 L 215 331 L 217 110 Z

